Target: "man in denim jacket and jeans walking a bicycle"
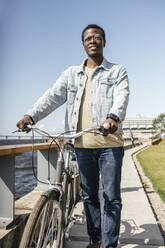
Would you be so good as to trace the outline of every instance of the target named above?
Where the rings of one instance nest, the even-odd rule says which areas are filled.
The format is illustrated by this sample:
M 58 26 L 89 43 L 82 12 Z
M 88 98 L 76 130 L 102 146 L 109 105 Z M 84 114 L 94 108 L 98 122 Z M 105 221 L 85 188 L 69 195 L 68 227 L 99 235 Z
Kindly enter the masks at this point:
M 109 123 L 109 133 L 114 134 L 115 138 L 110 135 L 85 134 L 76 139 L 75 152 L 90 238 L 87 247 L 117 247 L 122 208 L 121 122 L 125 118 L 128 104 L 128 76 L 123 66 L 112 64 L 103 57 L 106 40 L 101 27 L 88 25 L 82 32 L 82 43 L 87 59 L 82 65 L 64 71 L 17 126 L 22 127 L 25 121 L 36 123 L 64 102 L 67 102 L 66 130 L 81 130 Z M 98 197 L 99 173 L 104 197 L 102 228 Z

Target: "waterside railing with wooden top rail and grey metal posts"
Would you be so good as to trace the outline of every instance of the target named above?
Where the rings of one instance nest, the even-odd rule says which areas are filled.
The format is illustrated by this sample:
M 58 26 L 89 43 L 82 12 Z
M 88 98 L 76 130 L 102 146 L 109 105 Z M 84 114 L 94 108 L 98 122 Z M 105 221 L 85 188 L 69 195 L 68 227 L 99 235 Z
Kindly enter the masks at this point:
M 38 151 L 37 174 L 41 181 L 48 178 L 48 149 L 51 175 L 55 173 L 54 161 L 57 160 L 56 145 L 50 143 L 35 144 L 34 150 Z M 0 147 L 0 228 L 7 228 L 14 219 L 14 194 L 15 194 L 15 157 L 20 153 L 32 151 L 32 145 L 12 145 Z M 53 180 L 53 178 L 51 179 Z M 38 183 L 37 188 L 43 186 Z

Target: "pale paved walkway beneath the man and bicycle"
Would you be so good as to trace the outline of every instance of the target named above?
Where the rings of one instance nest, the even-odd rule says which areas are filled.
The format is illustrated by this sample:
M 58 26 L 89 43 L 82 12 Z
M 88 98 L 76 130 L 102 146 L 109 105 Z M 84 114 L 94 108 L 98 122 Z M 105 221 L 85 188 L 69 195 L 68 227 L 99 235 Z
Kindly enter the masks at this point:
M 146 194 L 131 155 L 144 145 L 125 151 L 122 174 L 122 221 L 118 248 L 165 247 Z M 79 203 L 74 214 L 83 219 L 83 206 Z M 86 224 L 75 224 L 70 230 L 70 241 L 65 248 L 85 248 L 88 244 Z

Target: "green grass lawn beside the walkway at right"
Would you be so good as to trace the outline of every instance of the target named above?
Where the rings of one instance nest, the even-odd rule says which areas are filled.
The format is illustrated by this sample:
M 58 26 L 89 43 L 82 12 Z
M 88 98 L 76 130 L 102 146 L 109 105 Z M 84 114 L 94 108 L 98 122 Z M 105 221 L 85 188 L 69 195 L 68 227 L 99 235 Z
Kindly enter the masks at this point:
M 154 190 L 165 202 L 165 141 L 150 146 L 136 157 L 145 175 L 150 178 Z

